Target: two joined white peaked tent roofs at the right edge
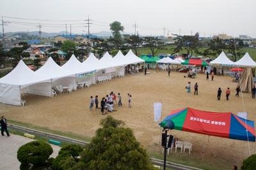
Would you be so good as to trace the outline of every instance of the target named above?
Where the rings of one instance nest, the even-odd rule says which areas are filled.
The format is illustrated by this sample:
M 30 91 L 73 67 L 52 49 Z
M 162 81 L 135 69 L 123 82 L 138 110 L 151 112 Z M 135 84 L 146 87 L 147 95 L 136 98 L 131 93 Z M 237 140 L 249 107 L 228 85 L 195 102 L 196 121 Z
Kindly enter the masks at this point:
M 224 52 L 221 52 L 216 59 L 210 62 L 210 64 L 229 67 L 256 67 L 256 62 L 252 59 L 252 57 L 250 57 L 248 52 L 246 52 L 244 56 L 236 62 L 232 62 L 232 60 L 228 59 Z

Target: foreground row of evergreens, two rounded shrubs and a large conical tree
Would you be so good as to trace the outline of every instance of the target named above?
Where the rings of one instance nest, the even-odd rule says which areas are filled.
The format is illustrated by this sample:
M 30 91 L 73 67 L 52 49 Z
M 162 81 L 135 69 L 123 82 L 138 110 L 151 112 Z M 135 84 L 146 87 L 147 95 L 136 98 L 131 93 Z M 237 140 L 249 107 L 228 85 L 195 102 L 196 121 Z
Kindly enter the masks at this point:
M 146 151 L 136 141 L 124 122 L 108 116 L 101 120 L 92 142 L 63 146 L 56 159 L 49 158 L 52 148 L 42 141 L 32 141 L 19 148 L 20 169 L 154 169 Z

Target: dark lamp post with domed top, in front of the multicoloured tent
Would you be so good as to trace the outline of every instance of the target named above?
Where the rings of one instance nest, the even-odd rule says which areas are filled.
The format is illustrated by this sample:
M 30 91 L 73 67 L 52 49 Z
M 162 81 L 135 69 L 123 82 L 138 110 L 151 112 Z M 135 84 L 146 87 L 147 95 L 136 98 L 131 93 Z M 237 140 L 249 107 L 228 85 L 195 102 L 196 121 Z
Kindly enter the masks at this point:
M 173 136 L 170 134 L 167 134 L 167 131 L 174 129 L 174 123 L 172 122 L 172 120 L 166 120 L 165 124 L 162 126 L 163 124 L 161 124 L 161 127 L 163 127 L 163 131 L 164 133 L 162 133 L 162 143 L 161 145 L 164 148 L 164 170 L 166 168 L 166 151 L 168 148 L 171 148 L 172 146 L 172 139 Z M 168 141 L 168 145 L 167 145 L 167 137 L 170 136 L 169 141 Z

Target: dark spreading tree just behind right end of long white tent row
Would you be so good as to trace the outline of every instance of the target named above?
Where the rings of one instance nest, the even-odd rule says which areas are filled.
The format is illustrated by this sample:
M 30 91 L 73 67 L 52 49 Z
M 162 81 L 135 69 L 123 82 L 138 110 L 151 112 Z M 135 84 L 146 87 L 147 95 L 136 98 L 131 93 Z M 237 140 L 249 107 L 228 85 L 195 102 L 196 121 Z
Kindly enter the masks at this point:
M 152 56 L 155 56 L 158 50 L 163 49 L 163 41 L 154 36 L 146 36 L 143 39 L 146 47 L 152 52 Z

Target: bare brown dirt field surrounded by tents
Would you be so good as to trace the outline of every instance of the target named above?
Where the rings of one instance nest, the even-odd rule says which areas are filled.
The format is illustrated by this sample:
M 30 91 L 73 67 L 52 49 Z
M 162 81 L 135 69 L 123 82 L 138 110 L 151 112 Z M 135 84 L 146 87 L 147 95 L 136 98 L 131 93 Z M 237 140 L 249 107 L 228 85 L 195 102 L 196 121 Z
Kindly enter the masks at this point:
M 57 97 L 28 96 L 27 106 L 17 107 L 0 104 L 0 115 L 19 122 L 29 122 L 42 127 L 49 127 L 58 131 L 74 132 L 84 136 L 93 136 L 99 128 L 99 121 L 106 116 L 100 111 L 90 111 L 90 96 L 98 95 L 99 99 L 109 92 L 118 92 L 122 95 L 124 106 L 115 108 L 118 110 L 109 115 L 124 120 L 127 127 L 133 129 L 138 141 L 150 152 L 159 152 L 160 129 L 154 122 L 153 103 L 163 103 L 163 118 L 171 110 L 191 107 L 207 111 L 237 111 L 243 110 L 242 94 L 235 96 L 236 83 L 228 76 L 215 76 L 214 81 L 205 80 L 204 74 L 197 78 L 183 78 L 184 73 L 172 72 L 168 77 L 166 72 L 155 73 L 144 76 L 142 73 L 117 78 L 108 82 L 93 85 L 89 89 L 79 89 L 72 94 L 61 94 Z M 211 77 L 210 77 L 211 78 Z M 199 85 L 199 94 L 194 96 L 186 92 L 186 84 L 195 82 Z M 221 101 L 217 101 L 216 92 L 218 87 L 223 89 Z M 225 100 L 225 89 L 230 87 L 230 101 Z M 132 108 L 128 108 L 127 93 L 132 94 Z M 250 94 L 243 94 L 245 111 L 248 118 L 255 120 L 255 100 Z M 204 160 L 213 164 L 237 164 L 249 155 L 248 143 L 232 139 L 210 137 L 201 134 L 193 134 L 182 131 L 172 131 L 175 137 L 182 141 L 193 143 L 191 157 L 202 159 L 202 146 L 205 140 Z M 255 145 L 250 143 L 251 153 L 255 152 Z M 178 153 L 176 153 L 178 154 Z

